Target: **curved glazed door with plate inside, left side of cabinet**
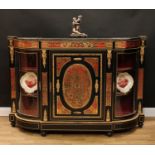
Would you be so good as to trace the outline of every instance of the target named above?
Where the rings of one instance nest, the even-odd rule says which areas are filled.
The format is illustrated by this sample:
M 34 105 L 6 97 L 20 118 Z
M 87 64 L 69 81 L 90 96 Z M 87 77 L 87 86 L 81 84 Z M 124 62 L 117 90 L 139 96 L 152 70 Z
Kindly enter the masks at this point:
M 36 119 L 40 117 L 39 57 L 38 51 L 15 51 L 17 113 Z

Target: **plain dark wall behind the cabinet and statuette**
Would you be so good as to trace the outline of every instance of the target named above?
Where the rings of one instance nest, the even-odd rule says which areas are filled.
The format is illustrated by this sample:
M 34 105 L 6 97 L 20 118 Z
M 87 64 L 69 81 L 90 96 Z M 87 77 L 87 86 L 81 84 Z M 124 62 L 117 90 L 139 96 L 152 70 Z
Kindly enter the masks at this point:
M 69 37 L 79 14 L 89 37 L 148 36 L 144 106 L 155 107 L 155 10 L 0 10 L 0 106 L 10 106 L 7 36 Z

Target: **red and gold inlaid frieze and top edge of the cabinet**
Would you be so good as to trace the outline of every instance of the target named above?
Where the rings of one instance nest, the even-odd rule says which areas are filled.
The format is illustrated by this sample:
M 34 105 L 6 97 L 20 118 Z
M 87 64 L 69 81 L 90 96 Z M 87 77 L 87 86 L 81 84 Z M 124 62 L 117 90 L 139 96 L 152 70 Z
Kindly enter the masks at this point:
M 145 45 L 146 36 L 127 38 L 29 38 L 8 36 L 9 46 L 21 49 L 129 49 Z

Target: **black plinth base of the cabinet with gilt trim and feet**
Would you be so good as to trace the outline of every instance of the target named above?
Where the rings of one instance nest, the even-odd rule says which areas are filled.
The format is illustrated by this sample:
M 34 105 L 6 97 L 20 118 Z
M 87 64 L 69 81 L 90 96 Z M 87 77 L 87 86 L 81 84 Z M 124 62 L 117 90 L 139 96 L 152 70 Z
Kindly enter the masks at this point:
M 128 120 L 112 121 L 112 122 L 55 122 L 55 121 L 39 121 L 32 119 L 25 119 L 17 114 L 10 114 L 11 125 L 29 129 L 29 130 L 38 130 L 41 132 L 42 136 L 46 136 L 47 131 L 61 131 L 61 132 L 106 132 L 110 137 L 113 135 L 114 131 L 121 131 L 132 129 L 138 126 L 142 127 L 144 122 L 144 115 L 136 115 Z M 143 121 L 142 121 L 143 120 Z

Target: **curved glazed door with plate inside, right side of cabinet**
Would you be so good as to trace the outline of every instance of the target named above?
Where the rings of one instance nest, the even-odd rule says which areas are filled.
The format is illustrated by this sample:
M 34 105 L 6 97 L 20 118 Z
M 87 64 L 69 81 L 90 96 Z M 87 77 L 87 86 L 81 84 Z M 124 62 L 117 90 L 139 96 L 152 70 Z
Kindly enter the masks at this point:
M 139 49 L 115 51 L 114 119 L 131 117 L 137 112 L 137 75 Z

